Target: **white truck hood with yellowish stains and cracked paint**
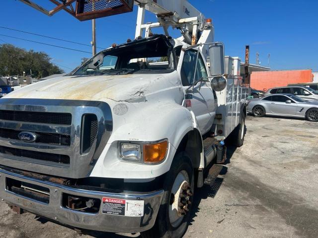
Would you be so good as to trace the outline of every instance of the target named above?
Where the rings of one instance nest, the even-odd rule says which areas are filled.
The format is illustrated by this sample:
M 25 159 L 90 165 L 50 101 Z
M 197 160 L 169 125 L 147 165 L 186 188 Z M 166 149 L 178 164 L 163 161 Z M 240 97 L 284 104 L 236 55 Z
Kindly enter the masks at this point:
M 147 93 L 167 87 L 171 80 L 166 78 L 174 73 L 62 76 L 30 84 L 6 98 L 139 102 L 145 101 Z

